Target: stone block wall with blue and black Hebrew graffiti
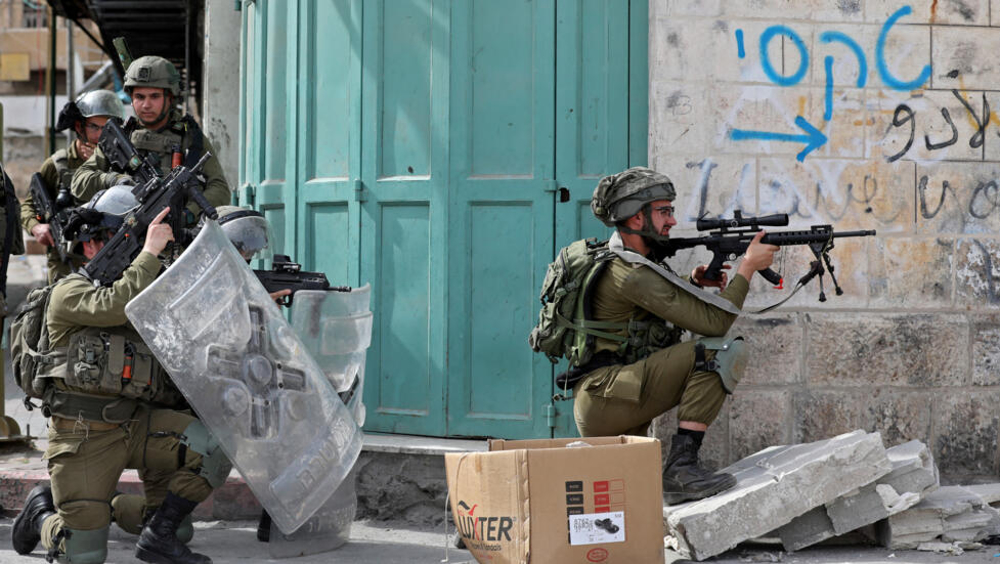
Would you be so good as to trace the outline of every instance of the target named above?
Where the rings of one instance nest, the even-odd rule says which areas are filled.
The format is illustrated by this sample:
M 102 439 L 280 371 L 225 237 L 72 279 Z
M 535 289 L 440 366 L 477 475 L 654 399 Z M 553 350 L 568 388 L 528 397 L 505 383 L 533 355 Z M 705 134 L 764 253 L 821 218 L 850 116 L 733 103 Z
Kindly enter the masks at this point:
M 737 322 L 753 354 L 709 460 L 861 428 L 926 442 L 946 482 L 995 481 L 1000 0 L 651 0 L 649 25 L 649 163 L 678 187 L 676 236 L 737 209 L 878 232 L 837 241 L 843 295 L 813 281 Z M 811 150 L 800 117 L 825 136 Z M 785 289 L 755 277 L 747 309 L 810 259 L 781 253 Z

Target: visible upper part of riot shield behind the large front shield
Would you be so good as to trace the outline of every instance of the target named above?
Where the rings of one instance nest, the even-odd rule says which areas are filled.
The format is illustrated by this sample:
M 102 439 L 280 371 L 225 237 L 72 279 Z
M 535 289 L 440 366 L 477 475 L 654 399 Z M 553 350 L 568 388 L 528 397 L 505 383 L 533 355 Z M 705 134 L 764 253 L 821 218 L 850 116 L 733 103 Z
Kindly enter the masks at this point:
M 292 327 L 360 427 L 365 353 L 372 342 L 371 285 L 350 292 L 301 290 L 292 302 Z

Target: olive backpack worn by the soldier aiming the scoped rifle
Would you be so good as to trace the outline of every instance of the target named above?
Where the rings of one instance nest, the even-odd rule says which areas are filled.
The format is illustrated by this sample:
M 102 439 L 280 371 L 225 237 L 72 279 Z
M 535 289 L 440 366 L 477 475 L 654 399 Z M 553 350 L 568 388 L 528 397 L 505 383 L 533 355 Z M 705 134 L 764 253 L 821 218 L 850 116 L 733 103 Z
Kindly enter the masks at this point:
M 545 353 L 553 364 L 566 358 L 570 366 L 582 366 L 593 356 L 594 337 L 627 341 L 607 332 L 627 329 L 627 323 L 589 320 L 593 283 L 614 257 L 607 241 L 598 243 L 594 238 L 575 241 L 559 251 L 545 273 L 539 296 L 542 309 L 528 337 L 532 350 Z

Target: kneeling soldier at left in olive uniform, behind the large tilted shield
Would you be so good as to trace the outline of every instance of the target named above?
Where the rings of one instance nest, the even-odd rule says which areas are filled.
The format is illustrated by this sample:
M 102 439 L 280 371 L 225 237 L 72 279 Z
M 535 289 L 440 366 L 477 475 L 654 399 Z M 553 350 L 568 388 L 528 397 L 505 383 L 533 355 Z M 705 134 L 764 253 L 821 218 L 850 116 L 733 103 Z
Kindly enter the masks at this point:
M 121 225 L 130 195 L 113 188 L 75 212 L 85 220 L 76 239 L 88 260 Z M 161 497 L 151 500 L 157 509 L 136 556 L 211 562 L 184 546 L 176 531 L 225 481 L 231 465 L 200 421 L 163 407 L 175 404 L 179 393 L 125 316 L 125 305 L 153 282 L 161 268 L 157 256 L 173 240 L 170 226 L 160 223 L 168 211 L 150 224 L 142 252 L 110 287 L 73 274 L 51 289 L 45 314 L 50 360 L 40 363 L 34 379 L 45 382 L 42 409 L 51 416 L 45 458 L 52 486 L 32 490 L 14 521 L 11 540 L 19 554 L 41 541 L 60 562 L 104 562 L 115 486 L 125 468 L 136 468 L 171 474 L 164 491 L 146 491 Z

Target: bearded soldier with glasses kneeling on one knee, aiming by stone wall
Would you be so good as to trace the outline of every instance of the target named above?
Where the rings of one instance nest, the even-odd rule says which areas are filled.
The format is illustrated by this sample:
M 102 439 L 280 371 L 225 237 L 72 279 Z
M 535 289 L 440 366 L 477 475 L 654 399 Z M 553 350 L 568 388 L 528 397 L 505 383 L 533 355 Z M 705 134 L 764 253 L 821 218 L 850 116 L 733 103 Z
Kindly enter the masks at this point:
M 664 496 L 671 504 L 735 485 L 733 476 L 703 468 L 698 451 L 744 364 L 742 340 L 681 343 L 680 333 L 723 337 L 738 316 L 753 273 L 770 266 L 777 250 L 760 243 L 764 234 L 758 234 L 728 286 L 725 276 L 705 280 L 705 266 L 694 269 L 688 280 L 676 277 L 655 264 L 658 246 L 677 224 L 675 196 L 666 176 L 644 167 L 598 184 L 591 209 L 616 228 L 609 249 L 618 256 L 593 282 L 587 319 L 620 337 L 597 336 L 593 358 L 571 370 L 579 377 L 573 411 L 585 437 L 645 435 L 655 417 L 679 406 L 679 429 L 663 472 Z M 697 286 L 724 289 L 712 295 Z M 619 328 L 612 328 L 615 324 Z M 633 334 L 636 327 L 645 327 L 643 335 Z

